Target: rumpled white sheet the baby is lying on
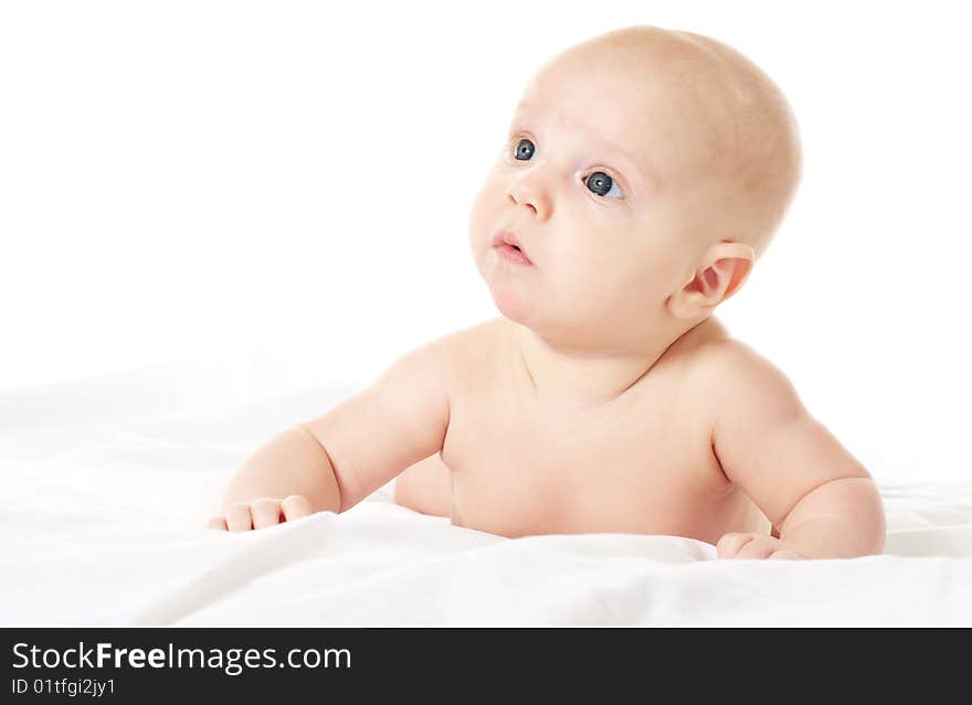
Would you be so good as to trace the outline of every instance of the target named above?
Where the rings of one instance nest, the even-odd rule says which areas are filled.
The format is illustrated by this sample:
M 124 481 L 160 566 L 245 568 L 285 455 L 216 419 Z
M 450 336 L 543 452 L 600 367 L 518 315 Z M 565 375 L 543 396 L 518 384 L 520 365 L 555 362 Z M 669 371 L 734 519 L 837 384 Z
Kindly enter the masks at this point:
M 356 389 L 274 396 L 281 380 L 173 367 L 0 392 L 0 624 L 972 623 L 972 482 L 881 484 L 886 554 L 853 560 L 508 540 L 398 506 L 391 483 L 341 515 L 207 531 L 258 444 Z

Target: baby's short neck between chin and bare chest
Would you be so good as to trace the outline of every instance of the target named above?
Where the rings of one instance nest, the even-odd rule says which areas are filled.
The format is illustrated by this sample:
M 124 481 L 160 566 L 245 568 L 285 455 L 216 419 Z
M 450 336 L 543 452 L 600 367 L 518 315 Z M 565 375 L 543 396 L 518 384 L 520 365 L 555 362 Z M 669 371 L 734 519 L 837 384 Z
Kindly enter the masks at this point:
M 526 388 L 545 403 L 591 408 L 616 399 L 634 386 L 707 320 L 613 350 L 558 345 L 521 323 L 507 322 L 514 351 L 522 361 Z

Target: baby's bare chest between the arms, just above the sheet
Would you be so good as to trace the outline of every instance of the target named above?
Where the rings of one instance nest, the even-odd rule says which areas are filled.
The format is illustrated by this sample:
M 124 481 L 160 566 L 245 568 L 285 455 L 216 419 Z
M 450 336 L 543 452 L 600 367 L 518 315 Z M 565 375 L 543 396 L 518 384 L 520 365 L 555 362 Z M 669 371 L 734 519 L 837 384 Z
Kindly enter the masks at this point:
M 453 523 L 506 536 L 715 533 L 727 490 L 687 404 L 664 380 L 585 412 L 501 384 L 455 399 L 442 452 Z

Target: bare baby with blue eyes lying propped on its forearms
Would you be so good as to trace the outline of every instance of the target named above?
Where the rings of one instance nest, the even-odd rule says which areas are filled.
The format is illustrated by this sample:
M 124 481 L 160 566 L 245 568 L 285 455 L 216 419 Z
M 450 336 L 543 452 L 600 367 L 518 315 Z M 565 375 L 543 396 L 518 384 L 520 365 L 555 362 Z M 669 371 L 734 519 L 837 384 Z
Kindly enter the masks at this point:
M 722 558 L 880 554 L 880 495 L 712 312 L 801 172 L 786 99 L 729 46 L 633 26 L 545 64 L 473 205 L 501 317 L 272 438 L 213 527 L 395 500 L 516 537 L 687 536 Z

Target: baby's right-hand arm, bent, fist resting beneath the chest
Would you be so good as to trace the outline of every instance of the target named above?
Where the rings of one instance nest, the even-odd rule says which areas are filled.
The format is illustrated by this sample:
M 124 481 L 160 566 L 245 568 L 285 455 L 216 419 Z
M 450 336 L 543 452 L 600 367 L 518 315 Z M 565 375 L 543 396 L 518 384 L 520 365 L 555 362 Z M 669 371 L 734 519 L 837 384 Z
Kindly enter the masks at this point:
M 712 448 L 726 476 L 763 511 L 779 538 L 726 534 L 727 558 L 852 558 L 880 554 L 885 514 L 865 468 L 815 418 L 772 364 L 729 351 Z

